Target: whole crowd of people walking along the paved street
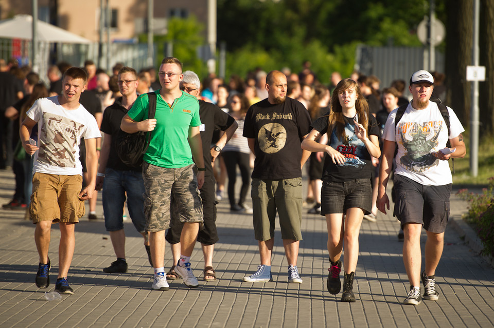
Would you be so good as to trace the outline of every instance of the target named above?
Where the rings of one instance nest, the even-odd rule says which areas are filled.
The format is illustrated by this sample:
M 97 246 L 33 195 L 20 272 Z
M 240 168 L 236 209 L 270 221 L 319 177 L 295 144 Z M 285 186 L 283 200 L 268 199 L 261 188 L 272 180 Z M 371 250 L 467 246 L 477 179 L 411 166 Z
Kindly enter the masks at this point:
M 157 72 L 117 64 L 112 76 L 92 61 L 83 68 L 59 63 L 48 69 L 49 87 L 29 67 L 15 64 L 0 60 L 0 164 L 12 167 L 16 182 L 12 200 L 3 207 L 24 209 L 36 224 L 39 288 L 50 283 L 50 229 L 60 222 L 56 291 L 73 293 L 67 275 L 74 226 L 85 215 L 85 200 L 88 218 L 98 219 L 96 193 L 102 190 L 105 229 L 116 256 L 103 268 L 106 273 L 128 270 L 127 204 L 154 268 L 153 290 L 168 290 L 167 281 L 175 279 L 198 286 L 190 260 L 197 241 L 204 255 L 203 280 L 216 280 L 216 204 L 227 197 L 232 213 L 252 214 L 259 246 L 260 264 L 243 281 L 273 279 L 278 215 L 288 282 L 302 283 L 297 258 L 306 205 L 309 214 L 327 222 L 329 293 L 341 292 L 343 270 L 341 301 L 355 302 L 360 226 L 389 210 L 386 185 L 394 172 L 394 215 L 411 285 L 404 304 L 438 299 L 434 275 L 452 183 L 447 161 L 465 155 L 461 123 L 435 100 L 445 92 L 444 75 L 413 73 L 408 99 L 405 81 L 381 90 L 376 76 L 357 72 L 346 79 L 333 72 L 325 85 L 308 61 L 298 74 L 288 68 L 257 69 L 245 79 L 209 75 L 202 82 L 173 57 L 166 57 Z M 143 164 L 131 166 L 119 158 L 118 136 L 138 131 L 150 134 L 150 144 Z M 422 227 L 428 241 L 421 272 Z M 165 273 L 166 242 L 173 265 Z

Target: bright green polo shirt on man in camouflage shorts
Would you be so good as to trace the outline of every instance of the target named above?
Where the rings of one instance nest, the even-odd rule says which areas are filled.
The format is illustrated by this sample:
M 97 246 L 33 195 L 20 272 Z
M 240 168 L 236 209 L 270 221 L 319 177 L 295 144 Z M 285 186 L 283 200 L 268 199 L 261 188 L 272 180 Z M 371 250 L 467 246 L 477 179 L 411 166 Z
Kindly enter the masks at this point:
M 156 127 L 152 131 L 151 143 L 144 154 L 144 161 L 166 168 L 191 165 L 192 152 L 188 143 L 189 127 L 200 126 L 199 102 L 182 91 L 171 107 L 163 100 L 160 90 L 156 93 Z M 129 117 L 136 121 L 148 119 L 149 98 L 141 94 L 129 110 Z

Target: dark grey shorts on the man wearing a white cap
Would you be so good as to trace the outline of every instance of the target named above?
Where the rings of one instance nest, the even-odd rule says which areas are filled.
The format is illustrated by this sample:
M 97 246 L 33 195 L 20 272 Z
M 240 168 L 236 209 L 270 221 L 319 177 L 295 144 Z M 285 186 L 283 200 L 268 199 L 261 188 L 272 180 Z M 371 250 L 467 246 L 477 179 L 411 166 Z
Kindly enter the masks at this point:
M 402 228 L 406 223 L 418 223 L 431 233 L 444 233 L 449 219 L 451 184 L 425 186 L 398 174 L 395 174 L 393 183 L 396 197 L 394 215 Z

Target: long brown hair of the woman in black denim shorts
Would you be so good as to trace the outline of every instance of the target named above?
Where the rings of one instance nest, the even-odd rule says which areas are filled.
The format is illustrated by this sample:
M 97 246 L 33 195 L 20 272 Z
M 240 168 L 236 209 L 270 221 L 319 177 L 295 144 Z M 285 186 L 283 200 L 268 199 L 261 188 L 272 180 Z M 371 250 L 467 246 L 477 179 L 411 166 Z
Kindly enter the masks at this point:
M 369 117 L 369 104 L 367 100 L 360 92 L 360 87 L 357 82 L 351 79 L 341 80 L 336 88 L 333 90 L 333 94 L 331 95 L 330 102 L 330 114 L 328 117 L 328 138 L 331 138 L 331 133 L 336 128 L 337 134 L 343 139 L 345 137 L 345 119 L 343 118 L 343 109 L 340 104 L 340 98 L 338 94 L 340 91 L 345 91 L 351 88 L 355 88 L 355 92 L 357 92 L 358 98 L 355 102 L 355 109 L 357 110 L 357 114 L 359 117 L 359 123 L 365 127 L 367 131 L 368 125 L 368 117 Z M 367 135 L 369 131 L 366 132 Z

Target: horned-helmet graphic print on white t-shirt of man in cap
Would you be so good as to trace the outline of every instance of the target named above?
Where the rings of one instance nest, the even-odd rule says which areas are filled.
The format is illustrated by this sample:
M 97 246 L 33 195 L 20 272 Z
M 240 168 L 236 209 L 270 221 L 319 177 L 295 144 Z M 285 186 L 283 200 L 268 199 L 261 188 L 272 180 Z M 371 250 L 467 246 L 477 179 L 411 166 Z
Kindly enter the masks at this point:
M 424 172 L 438 165 L 439 159 L 432 155 L 432 151 L 438 145 L 437 138 L 442 128 L 443 121 L 400 123 L 397 140 L 405 149 L 400 157 L 401 165 L 412 172 Z

